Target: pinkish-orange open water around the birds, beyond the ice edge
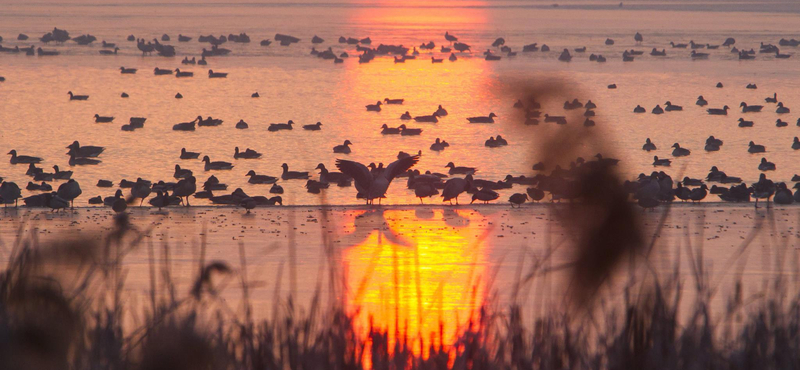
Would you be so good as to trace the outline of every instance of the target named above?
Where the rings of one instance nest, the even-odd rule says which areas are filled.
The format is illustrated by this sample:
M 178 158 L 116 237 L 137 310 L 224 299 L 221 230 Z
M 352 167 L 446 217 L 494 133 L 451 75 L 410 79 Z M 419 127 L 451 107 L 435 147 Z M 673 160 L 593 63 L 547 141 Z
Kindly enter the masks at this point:
M 547 101 L 543 113 L 563 115 L 562 102 L 574 97 L 592 99 L 598 105 L 598 126 L 613 145 L 606 156 L 622 159 L 628 176 L 652 170 L 652 156 L 669 157 L 669 146 L 679 142 L 693 154 L 675 160 L 673 176 L 704 177 L 712 165 L 718 165 L 729 175 L 748 181 L 757 179 L 757 164 L 762 155 L 749 155 L 746 144 L 753 140 L 767 146 L 763 156 L 776 163 L 778 170 L 771 177 L 789 180 L 794 174 L 794 158 L 790 148 L 796 136 L 796 113 L 779 116 L 774 105 L 766 105 L 764 113 L 745 114 L 733 109 L 727 117 L 711 117 L 696 107 L 697 95 L 703 95 L 710 107 L 739 102 L 764 104 L 763 99 L 778 93 L 784 104 L 800 109 L 800 99 L 792 91 L 798 87 L 797 56 L 794 48 L 783 48 L 792 54 L 788 60 L 776 60 L 759 54 L 755 61 L 739 61 L 725 48 L 709 51 L 705 61 L 692 61 L 688 50 L 670 49 L 669 41 L 720 44 L 726 37 L 735 37 L 739 48 L 758 48 L 761 41 L 777 44 L 781 37 L 791 38 L 796 30 L 798 12 L 792 3 L 770 3 L 759 11 L 751 11 L 752 3 L 688 6 L 684 3 L 647 2 L 626 5 L 622 9 L 602 2 L 575 2 L 559 8 L 549 3 L 527 2 L 381 2 L 355 3 L 113 3 L 57 2 L 20 3 L 4 6 L 0 14 L 0 35 L 3 45 L 27 46 L 19 43 L 17 33 L 23 32 L 36 40 L 57 26 L 75 37 L 90 33 L 98 38 L 92 46 L 77 46 L 73 42 L 49 45 L 62 53 L 57 57 L 26 57 L 0 55 L 0 148 L 17 149 L 21 154 L 45 159 L 42 167 L 53 164 L 62 169 L 68 157 L 63 147 L 73 140 L 83 145 L 107 148 L 98 166 L 72 168 L 74 178 L 84 189 L 78 204 L 86 204 L 88 195 L 110 195 L 113 190 L 94 188 L 98 179 L 119 180 L 142 177 L 151 180 L 171 178 L 174 165 L 180 164 L 195 172 L 200 182 L 211 173 L 204 173 L 202 162 L 181 161 L 181 147 L 209 155 L 212 160 L 234 162 L 232 171 L 214 172 L 229 189 L 241 187 L 248 194 L 263 195 L 268 185 L 247 184 L 244 176 L 253 169 L 259 174 L 278 175 L 280 165 L 288 163 L 292 170 L 312 171 L 318 163 L 334 168 L 335 158 L 348 158 L 364 163 L 394 160 L 402 150 L 423 151 L 417 168 L 444 172 L 447 162 L 478 168 L 476 177 L 499 180 L 506 174 L 531 174 L 530 166 L 545 153 L 537 152 L 538 140 L 550 129 L 545 125 L 526 127 L 520 124 L 512 104 L 518 97 L 512 90 L 520 81 L 541 81 L 559 78 L 571 90 L 569 96 L 557 96 Z M 613 5 L 616 6 L 616 3 Z M 645 10 L 631 10 L 639 7 Z M 677 11 L 677 9 L 689 9 Z M 783 11 L 784 13 L 771 13 Z M 445 31 L 460 37 L 473 46 L 472 54 L 461 54 L 455 63 L 431 64 L 430 55 L 446 57 L 439 46 L 446 44 Z M 645 36 L 642 45 L 634 45 L 633 34 Z M 198 56 L 202 47 L 196 41 L 200 34 L 229 34 L 246 32 L 250 44 L 226 43 L 232 50 L 228 57 L 209 58 L 207 68 L 228 72 L 227 79 L 208 79 L 206 67 L 179 64 L 184 56 Z M 281 47 L 273 44 L 259 46 L 262 39 L 277 33 L 302 39 L 299 44 Z M 135 44 L 125 41 L 129 34 L 145 39 L 169 34 L 178 50 L 178 57 L 142 57 Z M 178 43 L 181 33 L 194 39 Z M 339 36 L 370 36 L 373 46 L 379 43 L 419 45 L 433 40 L 435 53 L 422 52 L 418 60 L 394 64 L 390 58 L 377 58 L 369 64 L 358 64 L 349 58 L 334 65 L 309 54 L 313 35 L 326 42 L 338 54 L 347 51 L 356 55 L 353 47 L 336 42 Z M 485 50 L 496 37 L 504 37 L 507 45 L 520 51 L 522 45 L 538 42 L 547 44 L 549 53 L 522 53 L 499 62 L 484 61 Z M 607 38 L 616 40 L 606 46 Z M 99 41 L 116 42 L 119 55 L 98 54 Z M 31 41 L 31 40 L 29 40 Z M 34 43 L 38 46 L 38 43 Z M 586 55 L 573 53 L 570 63 L 557 61 L 559 50 L 587 46 Z M 652 47 L 667 48 L 668 57 L 656 59 L 647 55 Z M 621 52 L 635 48 L 644 50 L 633 63 L 622 63 Z M 603 54 L 604 64 L 590 63 L 589 53 Z M 118 68 L 138 68 L 136 75 L 120 75 Z M 155 67 L 195 72 L 194 78 L 176 79 L 154 76 Z M 717 82 L 725 88 L 716 89 Z M 606 85 L 616 83 L 616 90 Z M 756 83 L 757 90 L 747 90 L 747 83 Z M 88 94 L 86 102 L 70 102 L 66 92 Z M 250 98 L 259 92 L 260 99 Z M 122 92 L 130 95 L 121 99 Z M 174 99 L 180 92 L 184 98 Z M 572 94 L 574 92 L 574 94 Z M 403 106 L 384 107 L 380 113 L 367 112 L 366 104 L 389 98 L 404 98 Z M 637 104 L 648 111 L 655 104 L 670 100 L 684 106 L 683 112 L 661 116 L 631 113 Z M 438 124 L 408 123 L 420 127 L 418 137 L 384 136 L 379 127 L 396 127 L 403 123 L 401 113 L 430 114 L 443 105 L 450 115 Z M 470 125 L 469 116 L 496 113 L 493 125 Z M 115 116 L 112 124 L 94 123 L 94 114 Z M 220 127 L 198 128 L 192 133 L 174 132 L 173 124 L 191 120 L 197 115 L 221 118 Z M 147 117 L 145 128 L 122 132 L 120 126 L 131 116 Z M 736 119 L 744 116 L 754 120 L 749 129 L 736 127 Z M 780 117 L 789 127 L 776 128 Z M 236 130 L 235 122 L 243 119 L 248 130 Z M 295 129 L 270 133 L 272 122 L 293 120 L 299 125 L 317 121 L 323 123 L 320 132 Z M 578 125 L 582 117 L 570 119 Z M 548 125 L 549 126 L 549 125 Z M 299 127 L 298 127 L 299 128 Z M 490 149 L 483 142 L 497 134 L 510 142 L 505 148 Z M 705 138 L 714 135 L 725 141 L 720 152 L 705 153 Z M 452 145 L 441 153 L 427 150 L 435 138 Z M 652 153 L 641 151 L 641 144 L 650 137 L 659 147 Z M 332 147 L 345 139 L 354 143 L 350 155 L 334 155 Z M 264 154 L 259 160 L 233 160 L 233 148 L 253 148 Z M 587 145 L 580 153 L 586 157 L 596 148 Z M 564 163 L 567 165 L 567 163 Z M 685 166 L 685 169 L 684 169 Z M 0 174 L 8 180 L 25 184 L 24 165 L 0 164 Z M 291 204 L 317 204 L 320 197 L 306 193 L 303 183 L 282 183 L 284 199 Z M 520 189 L 501 193 L 502 198 Z M 333 204 L 356 202 L 353 188 L 331 188 L 324 201 Z M 416 203 L 412 192 L 395 184 L 386 203 Z M 433 202 L 438 202 L 434 199 Z M 204 204 L 197 200 L 197 204 Z

